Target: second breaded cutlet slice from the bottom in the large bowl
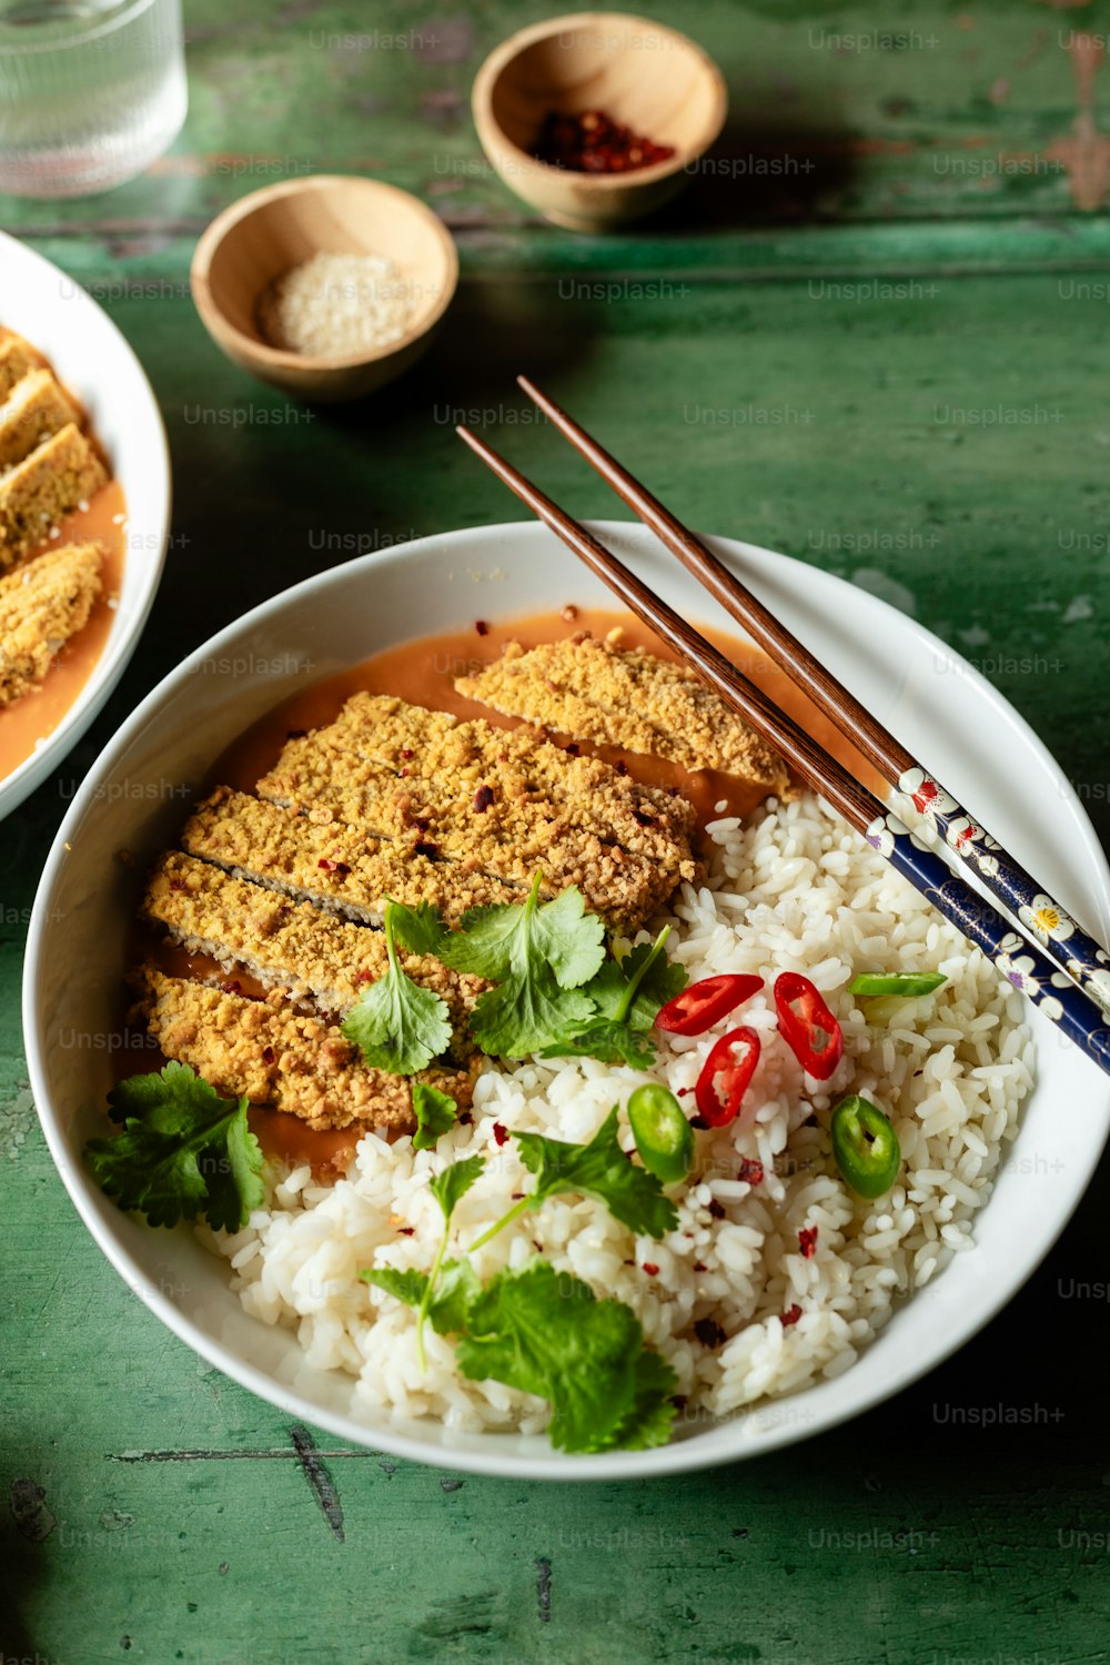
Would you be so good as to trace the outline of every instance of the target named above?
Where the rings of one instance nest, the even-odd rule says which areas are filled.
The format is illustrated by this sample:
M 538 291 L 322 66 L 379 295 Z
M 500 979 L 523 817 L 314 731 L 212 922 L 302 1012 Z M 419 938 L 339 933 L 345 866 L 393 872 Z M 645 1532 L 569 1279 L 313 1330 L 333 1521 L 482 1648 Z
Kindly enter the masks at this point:
M 155 866 L 140 914 L 163 926 L 186 952 L 208 954 L 225 971 L 241 966 L 265 987 L 288 991 L 323 1012 L 349 1011 L 389 969 L 381 931 L 295 902 L 180 851 Z M 446 1001 L 456 1041 L 466 1042 L 466 1016 L 486 987 L 483 979 L 451 971 L 431 954 L 398 947 L 398 959 L 406 976 Z M 458 1046 L 454 1054 L 463 1056 Z

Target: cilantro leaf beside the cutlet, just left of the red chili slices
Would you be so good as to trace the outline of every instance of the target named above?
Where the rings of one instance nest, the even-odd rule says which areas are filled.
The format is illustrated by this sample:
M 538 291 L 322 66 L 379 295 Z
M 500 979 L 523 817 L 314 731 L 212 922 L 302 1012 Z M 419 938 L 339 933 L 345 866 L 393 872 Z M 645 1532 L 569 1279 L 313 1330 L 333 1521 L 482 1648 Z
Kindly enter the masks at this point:
M 651 1069 L 656 1062 L 654 1022 L 661 1006 L 686 987 L 686 967 L 667 959 L 664 926 L 654 942 L 639 942 L 624 959 L 607 959 L 582 987 L 594 1016 L 569 1027 L 541 1057 L 596 1057 L 602 1064 Z

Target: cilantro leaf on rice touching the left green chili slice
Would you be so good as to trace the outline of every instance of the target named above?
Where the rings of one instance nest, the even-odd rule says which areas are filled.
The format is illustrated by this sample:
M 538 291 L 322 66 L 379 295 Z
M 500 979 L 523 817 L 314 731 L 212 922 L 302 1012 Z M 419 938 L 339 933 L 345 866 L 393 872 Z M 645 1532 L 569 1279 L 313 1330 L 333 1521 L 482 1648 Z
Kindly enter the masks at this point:
M 662 1184 L 647 1169 L 627 1159 L 617 1142 L 617 1112 L 604 1122 L 584 1146 L 548 1139 L 544 1134 L 514 1134 L 524 1167 L 538 1175 L 536 1190 L 528 1199 L 539 1207 L 561 1190 L 582 1190 L 604 1202 L 609 1212 L 634 1232 L 664 1237 L 679 1224 L 679 1214 Z

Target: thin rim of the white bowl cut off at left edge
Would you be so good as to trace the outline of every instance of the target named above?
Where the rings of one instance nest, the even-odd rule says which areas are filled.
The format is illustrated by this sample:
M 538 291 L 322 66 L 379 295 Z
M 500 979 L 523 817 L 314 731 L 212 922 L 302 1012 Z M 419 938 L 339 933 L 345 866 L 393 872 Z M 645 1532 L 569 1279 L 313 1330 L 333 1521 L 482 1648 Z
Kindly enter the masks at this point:
M 111 633 L 108 641 L 100 653 L 100 658 L 88 673 L 87 681 L 77 691 L 73 704 L 62 714 L 58 726 L 38 746 L 23 758 L 22 763 L 0 778 L 0 821 L 12 814 L 25 798 L 28 798 L 50 774 L 50 771 L 62 763 L 85 731 L 95 723 L 95 719 L 103 711 L 110 694 L 116 688 L 116 683 L 123 676 L 131 654 L 138 648 L 140 638 L 146 628 L 150 618 L 150 609 L 155 604 L 155 596 L 158 594 L 158 586 L 161 584 L 161 574 L 166 564 L 166 549 L 170 544 L 170 526 L 173 519 L 173 460 L 170 456 L 170 440 L 166 436 L 166 425 L 161 416 L 161 406 L 155 395 L 150 378 L 143 370 L 141 360 L 131 343 L 126 340 L 120 326 L 113 318 L 108 316 L 100 301 L 88 293 L 80 278 L 70 278 L 62 266 L 57 266 L 53 260 L 47 260 L 38 250 L 28 248 L 20 238 L 12 236 L 7 231 L 0 231 L 0 258 L 13 263 L 25 261 L 32 268 L 42 268 L 40 275 L 45 280 L 50 275 L 52 280 L 63 278 L 73 283 L 80 290 L 83 301 L 87 301 L 95 311 L 100 313 L 102 325 L 113 341 L 113 348 L 121 358 L 130 360 L 133 373 L 138 376 L 143 396 L 146 400 L 146 410 L 143 420 L 150 425 L 151 440 L 158 453 L 158 468 L 161 473 L 160 498 L 161 509 L 158 513 L 156 523 L 151 524 L 156 538 L 156 549 L 151 551 L 153 558 L 146 571 L 146 584 L 140 593 L 135 604 L 131 623 L 128 629 L 120 634 L 118 641 L 111 641 Z M 43 291 L 47 291 L 47 283 L 43 283 Z M 37 345 L 37 343 L 32 343 Z M 70 366 L 72 370 L 73 366 Z M 70 375 L 62 376 L 63 381 L 70 381 Z M 130 521 L 130 504 L 128 504 L 128 521 Z M 126 551 L 125 551 L 126 566 Z

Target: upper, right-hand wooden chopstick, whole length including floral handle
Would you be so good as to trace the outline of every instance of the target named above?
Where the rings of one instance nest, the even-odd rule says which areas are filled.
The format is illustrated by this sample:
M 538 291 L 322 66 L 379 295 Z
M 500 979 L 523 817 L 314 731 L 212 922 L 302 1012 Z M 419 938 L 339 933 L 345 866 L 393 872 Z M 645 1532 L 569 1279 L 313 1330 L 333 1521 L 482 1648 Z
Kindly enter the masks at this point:
M 1105 947 L 1068 917 L 1045 886 L 1038 884 L 982 823 L 969 814 L 959 799 L 884 728 L 874 711 L 860 704 L 855 694 L 812 656 L 809 648 L 724 566 L 712 549 L 706 548 L 689 526 L 684 526 L 528 376 L 516 380 L 606 485 L 612 486 L 709 594 L 789 673 L 817 709 L 835 723 L 904 799 L 937 826 L 954 857 L 975 872 L 979 881 L 1017 916 L 1022 934 L 1035 937 L 1100 1011 L 1110 1014 L 1110 957 Z

